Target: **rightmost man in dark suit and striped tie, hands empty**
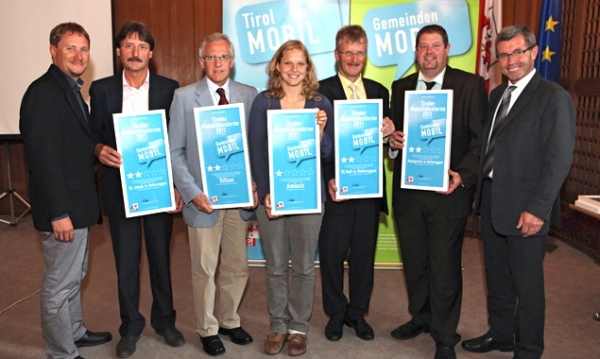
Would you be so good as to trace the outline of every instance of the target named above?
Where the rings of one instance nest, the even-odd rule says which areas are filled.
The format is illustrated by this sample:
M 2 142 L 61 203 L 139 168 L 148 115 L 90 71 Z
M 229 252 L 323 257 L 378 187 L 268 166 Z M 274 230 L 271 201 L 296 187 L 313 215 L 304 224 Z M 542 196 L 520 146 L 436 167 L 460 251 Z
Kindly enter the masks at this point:
M 480 353 L 514 347 L 518 359 L 540 358 L 544 350 L 546 234 L 560 220 L 559 191 L 575 148 L 571 95 L 536 72 L 538 51 L 522 25 L 496 38 L 508 82 L 490 97 L 475 200 L 490 329 L 462 343 Z

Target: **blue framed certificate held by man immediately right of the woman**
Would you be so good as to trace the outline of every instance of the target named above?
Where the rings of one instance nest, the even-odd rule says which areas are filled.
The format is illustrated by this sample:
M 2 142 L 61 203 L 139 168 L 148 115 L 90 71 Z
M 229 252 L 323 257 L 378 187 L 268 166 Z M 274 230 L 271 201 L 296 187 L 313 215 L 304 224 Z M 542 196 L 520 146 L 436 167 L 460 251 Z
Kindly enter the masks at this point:
M 335 100 L 337 198 L 383 196 L 383 101 Z

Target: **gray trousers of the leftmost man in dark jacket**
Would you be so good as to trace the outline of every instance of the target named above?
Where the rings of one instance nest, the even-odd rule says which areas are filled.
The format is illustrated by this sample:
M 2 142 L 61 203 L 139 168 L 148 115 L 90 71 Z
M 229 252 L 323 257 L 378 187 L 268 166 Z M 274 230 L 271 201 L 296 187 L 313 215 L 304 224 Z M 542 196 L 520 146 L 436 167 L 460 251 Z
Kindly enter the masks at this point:
M 87 272 L 89 228 L 75 230 L 73 242 L 59 242 L 44 232 L 42 335 L 48 359 L 77 357 L 75 341 L 83 337 L 81 281 Z

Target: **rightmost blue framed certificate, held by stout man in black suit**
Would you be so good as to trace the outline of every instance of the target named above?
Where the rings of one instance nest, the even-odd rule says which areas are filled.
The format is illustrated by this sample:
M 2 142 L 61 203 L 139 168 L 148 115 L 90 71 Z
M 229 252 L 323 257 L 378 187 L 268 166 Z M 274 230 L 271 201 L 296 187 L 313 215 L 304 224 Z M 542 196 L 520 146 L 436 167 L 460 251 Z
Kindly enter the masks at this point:
M 400 187 L 448 190 L 452 95 L 452 90 L 406 91 Z

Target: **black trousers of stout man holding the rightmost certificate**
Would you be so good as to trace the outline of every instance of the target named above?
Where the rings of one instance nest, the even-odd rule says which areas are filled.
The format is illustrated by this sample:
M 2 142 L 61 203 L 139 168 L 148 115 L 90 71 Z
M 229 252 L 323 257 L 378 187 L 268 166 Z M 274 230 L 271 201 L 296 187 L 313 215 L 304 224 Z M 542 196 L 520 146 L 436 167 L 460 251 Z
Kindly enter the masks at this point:
M 466 217 L 440 208 L 433 192 L 418 192 L 402 214 L 394 215 L 404 264 L 408 311 L 428 324 L 436 342 L 456 344 L 462 300 L 462 243 Z

